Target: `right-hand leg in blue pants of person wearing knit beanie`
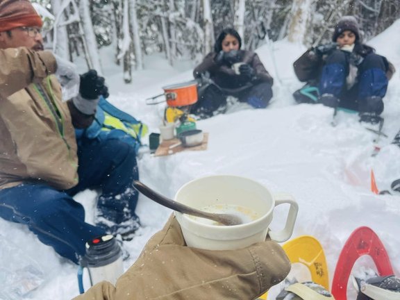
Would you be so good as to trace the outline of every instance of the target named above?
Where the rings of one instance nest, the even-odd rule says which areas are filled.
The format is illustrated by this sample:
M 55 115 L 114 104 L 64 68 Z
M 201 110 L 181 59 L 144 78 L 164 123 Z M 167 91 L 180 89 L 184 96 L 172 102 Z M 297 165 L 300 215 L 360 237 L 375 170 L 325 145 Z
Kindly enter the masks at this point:
M 370 53 L 358 67 L 358 73 L 358 110 L 380 115 L 388 84 L 383 58 Z

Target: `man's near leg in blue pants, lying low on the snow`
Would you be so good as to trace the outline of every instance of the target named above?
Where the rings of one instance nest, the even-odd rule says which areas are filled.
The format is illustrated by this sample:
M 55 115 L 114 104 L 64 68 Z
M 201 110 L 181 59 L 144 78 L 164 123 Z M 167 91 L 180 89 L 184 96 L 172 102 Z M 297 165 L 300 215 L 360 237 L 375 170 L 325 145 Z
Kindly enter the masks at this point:
M 85 210 L 65 192 L 47 185 L 23 184 L 0 190 L 0 217 L 26 224 L 60 256 L 78 263 L 85 243 L 103 229 L 85 223 Z

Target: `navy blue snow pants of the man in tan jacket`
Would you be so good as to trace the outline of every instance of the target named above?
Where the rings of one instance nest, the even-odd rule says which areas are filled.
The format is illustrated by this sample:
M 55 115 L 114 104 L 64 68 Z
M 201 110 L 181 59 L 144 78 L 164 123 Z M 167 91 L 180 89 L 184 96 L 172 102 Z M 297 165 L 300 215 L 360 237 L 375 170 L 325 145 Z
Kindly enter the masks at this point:
M 87 188 L 101 188 L 107 195 L 122 194 L 138 178 L 135 149 L 119 140 L 79 141 L 78 163 L 79 183 L 72 190 L 39 183 L 0 190 L 0 217 L 26 224 L 41 242 L 74 263 L 85 254 L 85 242 L 105 231 L 85 223 L 85 210 L 72 196 Z M 111 206 L 123 214 L 119 198 L 112 198 L 106 210 Z M 128 209 L 133 213 L 137 201 L 136 192 L 129 199 Z

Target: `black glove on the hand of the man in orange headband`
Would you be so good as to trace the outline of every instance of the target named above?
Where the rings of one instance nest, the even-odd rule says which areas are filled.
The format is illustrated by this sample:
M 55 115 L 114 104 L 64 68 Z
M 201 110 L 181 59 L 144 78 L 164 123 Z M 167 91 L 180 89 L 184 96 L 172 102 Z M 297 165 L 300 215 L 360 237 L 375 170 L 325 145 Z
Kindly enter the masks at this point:
M 98 99 L 101 95 L 107 98 L 108 88 L 104 85 L 104 77 L 98 76 L 96 70 L 90 69 L 85 74 L 81 74 L 81 84 L 79 93 L 85 99 Z

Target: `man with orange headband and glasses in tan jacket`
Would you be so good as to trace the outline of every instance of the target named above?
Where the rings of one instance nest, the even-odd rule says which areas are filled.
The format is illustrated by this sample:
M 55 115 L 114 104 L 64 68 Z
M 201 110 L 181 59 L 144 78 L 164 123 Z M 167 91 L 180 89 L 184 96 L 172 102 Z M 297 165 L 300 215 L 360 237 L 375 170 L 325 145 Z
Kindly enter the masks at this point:
M 135 149 L 119 140 L 76 142 L 75 128 L 92 124 L 108 89 L 96 71 L 79 76 L 43 51 L 41 28 L 30 1 L 0 1 L 0 217 L 26 224 L 78 263 L 88 240 L 106 233 L 132 238 L 140 226 Z M 59 81 L 80 82 L 79 93 L 62 99 Z M 72 198 L 88 188 L 101 190 L 96 226 Z

